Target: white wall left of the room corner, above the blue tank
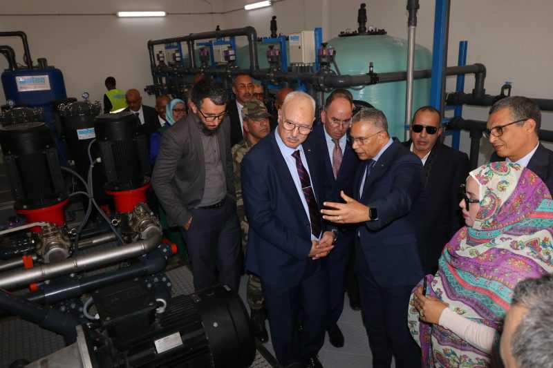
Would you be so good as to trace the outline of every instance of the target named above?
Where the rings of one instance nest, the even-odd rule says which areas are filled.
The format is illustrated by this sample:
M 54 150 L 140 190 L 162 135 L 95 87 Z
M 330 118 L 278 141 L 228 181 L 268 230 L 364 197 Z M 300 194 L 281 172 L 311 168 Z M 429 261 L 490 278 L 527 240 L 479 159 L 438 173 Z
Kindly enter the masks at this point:
M 152 83 L 147 41 L 191 32 L 224 28 L 217 14 L 168 15 L 165 18 L 123 19 L 115 17 L 120 10 L 165 10 L 167 12 L 212 12 L 222 9 L 222 0 L 94 0 L 94 1 L 10 1 L 2 5 L 1 14 L 97 14 L 69 16 L 6 16 L 0 14 L 0 30 L 23 30 L 27 33 L 32 59 L 46 57 L 48 64 L 64 73 L 67 95 L 77 97 L 88 91 L 92 100 L 102 101 L 104 79 L 113 75 L 118 87 L 141 90 Z M 158 5 L 156 5 L 158 4 Z M 23 51 L 20 41 L 0 39 L 0 44 L 17 46 L 19 63 Z M 0 58 L 0 68 L 7 66 Z M 145 104 L 153 97 L 144 96 Z M 3 90 L 0 101 L 5 101 Z

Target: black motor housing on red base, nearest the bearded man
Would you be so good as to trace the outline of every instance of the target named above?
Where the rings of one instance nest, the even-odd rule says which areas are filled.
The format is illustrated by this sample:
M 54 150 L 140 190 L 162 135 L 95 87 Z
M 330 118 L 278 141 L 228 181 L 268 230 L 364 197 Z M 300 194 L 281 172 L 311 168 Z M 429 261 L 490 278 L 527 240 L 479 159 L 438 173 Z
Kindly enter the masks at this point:
M 130 111 L 97 116 L 95 132 L 109 191 L 128 191 L 149 182 L 147 136 L 139 133 L 140 120 Z

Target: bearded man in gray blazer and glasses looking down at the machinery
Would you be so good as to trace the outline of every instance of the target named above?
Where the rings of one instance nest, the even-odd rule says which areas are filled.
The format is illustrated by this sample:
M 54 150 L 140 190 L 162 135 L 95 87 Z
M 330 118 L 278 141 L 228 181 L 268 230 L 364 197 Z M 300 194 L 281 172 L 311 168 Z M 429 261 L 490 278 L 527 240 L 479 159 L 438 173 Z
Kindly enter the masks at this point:
M 151 178 L 169 225 L 182 229 L 196 290 L 238 291 L 242 269 L 226 102 L 221 84 L 194 86 L 191 113 L 162 135 Z

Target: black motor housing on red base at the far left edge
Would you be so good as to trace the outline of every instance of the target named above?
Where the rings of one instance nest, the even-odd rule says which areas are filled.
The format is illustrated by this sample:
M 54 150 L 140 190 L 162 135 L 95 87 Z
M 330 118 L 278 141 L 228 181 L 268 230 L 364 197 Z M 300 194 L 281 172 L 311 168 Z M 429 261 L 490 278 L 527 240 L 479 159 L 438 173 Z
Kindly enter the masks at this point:
M 67 198 L 53 135 L 43 122 L 0 128 L 16 209 L 41 209 Z

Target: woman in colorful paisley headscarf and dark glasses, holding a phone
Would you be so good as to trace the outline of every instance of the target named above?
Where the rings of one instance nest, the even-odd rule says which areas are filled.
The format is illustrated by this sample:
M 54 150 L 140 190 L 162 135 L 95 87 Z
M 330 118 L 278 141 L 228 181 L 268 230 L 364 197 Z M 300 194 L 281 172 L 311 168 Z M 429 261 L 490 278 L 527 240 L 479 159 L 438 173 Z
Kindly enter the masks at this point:
M 553 271 L 553 201 L 536 174 L 494 162 L 469 173 L 462 195 L 467 226 L 409 302 L 423 367 L 489 366 L 517 282 Z

